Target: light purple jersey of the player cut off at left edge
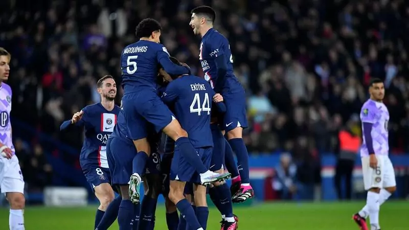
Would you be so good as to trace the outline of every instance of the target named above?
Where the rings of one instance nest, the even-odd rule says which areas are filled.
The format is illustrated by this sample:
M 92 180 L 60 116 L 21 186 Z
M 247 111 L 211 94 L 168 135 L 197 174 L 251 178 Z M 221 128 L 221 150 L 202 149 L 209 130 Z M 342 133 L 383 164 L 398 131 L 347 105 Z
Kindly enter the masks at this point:
M 0 142 L 11 149 L 14 154 L 14 146 L 11 139 L 11 88 L 6 83 L 0 85 Z M 0 155 L 0 158 L 3 156 Z

